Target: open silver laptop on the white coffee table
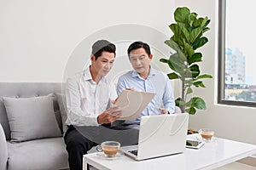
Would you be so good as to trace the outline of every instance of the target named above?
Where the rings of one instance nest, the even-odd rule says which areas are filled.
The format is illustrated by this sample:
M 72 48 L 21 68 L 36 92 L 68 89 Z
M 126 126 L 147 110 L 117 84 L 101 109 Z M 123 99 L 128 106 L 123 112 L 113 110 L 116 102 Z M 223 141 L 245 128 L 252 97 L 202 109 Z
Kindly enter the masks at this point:
M 188 125 L 188 113 L 142 116 L 138 144 L 120 150 L 137 161 L 183 153 Z

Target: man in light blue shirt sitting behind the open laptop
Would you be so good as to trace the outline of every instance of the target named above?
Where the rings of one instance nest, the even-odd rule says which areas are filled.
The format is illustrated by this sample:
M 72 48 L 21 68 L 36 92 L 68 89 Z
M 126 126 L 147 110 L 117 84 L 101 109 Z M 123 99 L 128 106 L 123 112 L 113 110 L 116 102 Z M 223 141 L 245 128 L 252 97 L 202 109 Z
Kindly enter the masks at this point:
M 124 89 L 128 88 L 136 91 L 153 92 L 155 96 L 136 121 L 126 121 L 125 123 L 139 123 L 141 116 L 174 113 L 175 102 L 171 82 L 166 73 L 157 71 L 150 65 L 153 54 L 151 54 L 148 44 L 133 42 L 127 52 L 134 70 L 119 77 L 117 93 L 121 94 Z

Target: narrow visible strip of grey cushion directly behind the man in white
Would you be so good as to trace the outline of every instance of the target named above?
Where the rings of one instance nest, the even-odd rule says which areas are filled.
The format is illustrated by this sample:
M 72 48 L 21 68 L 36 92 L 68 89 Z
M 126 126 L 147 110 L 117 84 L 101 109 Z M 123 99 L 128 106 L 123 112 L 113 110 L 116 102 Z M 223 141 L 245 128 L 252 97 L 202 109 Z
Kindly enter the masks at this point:
M 64 94 L 58 94 L 55 93 L 55 96 L 57 97 L 57 101 L 60 107 L 61 111 L 61 122 L 62 122 L 62 130 L 63 133 L 67 132 L 67 106 L 66 106 L 66 98 Z

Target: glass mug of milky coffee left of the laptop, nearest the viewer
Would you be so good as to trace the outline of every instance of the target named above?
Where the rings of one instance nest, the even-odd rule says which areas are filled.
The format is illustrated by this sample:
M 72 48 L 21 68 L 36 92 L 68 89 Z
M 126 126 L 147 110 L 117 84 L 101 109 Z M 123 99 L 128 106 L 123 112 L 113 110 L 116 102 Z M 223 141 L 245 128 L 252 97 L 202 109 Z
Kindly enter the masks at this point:
M 106 157 L 114 157 L 120 149 L 120 143 L 116 141 L 105 141 L 96 146 L 97 151 L 103 151 Z

